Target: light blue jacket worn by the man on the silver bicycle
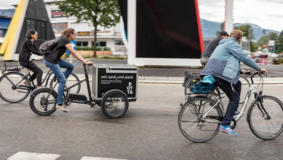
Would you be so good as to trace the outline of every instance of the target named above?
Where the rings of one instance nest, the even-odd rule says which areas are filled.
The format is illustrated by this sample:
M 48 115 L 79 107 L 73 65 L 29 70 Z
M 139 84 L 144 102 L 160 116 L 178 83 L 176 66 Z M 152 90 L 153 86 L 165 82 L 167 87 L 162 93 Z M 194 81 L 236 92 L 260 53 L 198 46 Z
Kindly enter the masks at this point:
M 205 75 L 212 75 L 236 84 L 242 70 L 240 61 L 255 70 L 260 69 L 260 66 L 244 53 L 235 38 L 225 38 L 220 40 L 200 76 L 203 78 Z

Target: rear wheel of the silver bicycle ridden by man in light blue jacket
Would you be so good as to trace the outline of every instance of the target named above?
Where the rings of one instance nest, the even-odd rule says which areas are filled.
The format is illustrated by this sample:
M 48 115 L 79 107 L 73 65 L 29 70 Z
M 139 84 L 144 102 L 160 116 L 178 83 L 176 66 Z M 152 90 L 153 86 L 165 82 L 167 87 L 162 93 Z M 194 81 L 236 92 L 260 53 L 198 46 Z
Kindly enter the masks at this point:
M 201 118 L 213 106 L 214 101 L 207 97 L 191 98 L 180 110 L 178 123 L 182 134 L 193 142 L 206 142 L 219 132 L 220 121 Z M 223 116 L 220 105 L 210 110 L 207 116 Z M 213 122 L 208 122 L 208 121 Z

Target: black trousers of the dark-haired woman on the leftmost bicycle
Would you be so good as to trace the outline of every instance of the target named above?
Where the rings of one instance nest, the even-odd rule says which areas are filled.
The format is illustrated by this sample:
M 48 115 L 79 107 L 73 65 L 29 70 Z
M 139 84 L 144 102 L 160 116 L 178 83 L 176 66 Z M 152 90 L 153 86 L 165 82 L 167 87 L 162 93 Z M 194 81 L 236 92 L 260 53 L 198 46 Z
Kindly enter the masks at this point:
M 33 74 L 30 76 L 30 78 L 32 79 L 32 81 L 35 80 L 36 78 L 37 86 L 41 86 L 42 74 L 43 74 L 42 70 L 33 61 L 29 61 L 27 66 L 21 64 L 21 62 L 20 62 L 20 65 L 31 70 Z

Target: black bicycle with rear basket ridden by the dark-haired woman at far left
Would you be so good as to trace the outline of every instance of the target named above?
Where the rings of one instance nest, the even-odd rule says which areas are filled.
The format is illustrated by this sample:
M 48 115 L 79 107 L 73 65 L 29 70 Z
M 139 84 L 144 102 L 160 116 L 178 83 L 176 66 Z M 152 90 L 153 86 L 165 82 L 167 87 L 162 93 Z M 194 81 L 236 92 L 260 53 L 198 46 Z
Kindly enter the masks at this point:
M 0 77 L 0 97 L 7 102 L 17 103 L 23 101 L 27 98 L 27 96 L 37 88 L 34 85 L 30 71 L 27 69 L 27 72 L 22 71 L 23 66 L 19 67 L 19 63 L 17 62 L 4 62 L 5 70 L 2 71 L 2 76 Z M 57 83 L 57 79 L 55 76 L 52 77 L 53 72 L 51 69 L 47 72 L 45 78 L 41 82 L 41 86 L 43 86 L 45 80 L 46 83 L 44 87 L 48 85 L 48 81 L 51 78 L 49 86 L 53 88 L 54 84 Z M 27 85 L 24 85 L 23 82 L 27 82 Z M 75 82 L 79 82 L 79 78 L 71 73 L 69 78 L 67 79 L 66 85 L 72 85 Z M 81 86 L 77 85 L 73 88 L 73 91 L 79 93 Z

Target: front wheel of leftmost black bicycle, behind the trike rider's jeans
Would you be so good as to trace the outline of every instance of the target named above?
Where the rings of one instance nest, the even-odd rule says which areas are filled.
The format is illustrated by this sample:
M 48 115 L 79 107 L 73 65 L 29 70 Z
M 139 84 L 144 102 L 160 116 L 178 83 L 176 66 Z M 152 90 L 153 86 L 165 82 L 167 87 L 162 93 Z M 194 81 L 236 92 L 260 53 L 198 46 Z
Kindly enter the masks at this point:
M 64 73 L 65 71 L 63 71 Z M 56 84 L 57 82 L 57 78 L 55 80 L 55 76 L 53 76 L 53 78 L 50 81 L 50 88 L 53 88 L 53 86 Z M 67 82 L 66 85 L 68 87 L 70 87 L 71 85 L 76 84 L 77 82 L 79 82 L 79 78 L 78 76 L 76 76 L 75 74 L 71 73 L 70 76 L 67 78 Z M 74 86 L 72 89 L 72 93 L 79 93 L 80 89 L 81 89 L 81 84 L 78 84 L 76 86 Z M 56 88 L 54 88 L 54 91 L 58 91 L 58 85 L 56 86 Z

